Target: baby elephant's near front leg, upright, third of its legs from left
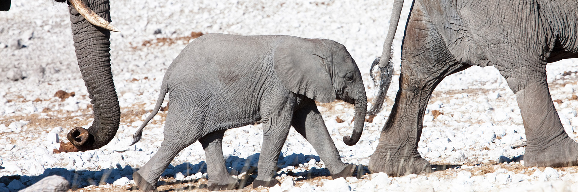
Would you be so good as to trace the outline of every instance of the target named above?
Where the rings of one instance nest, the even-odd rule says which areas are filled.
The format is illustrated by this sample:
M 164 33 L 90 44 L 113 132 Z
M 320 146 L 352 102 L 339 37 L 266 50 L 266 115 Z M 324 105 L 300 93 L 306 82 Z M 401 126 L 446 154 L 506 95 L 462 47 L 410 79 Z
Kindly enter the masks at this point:
M 283 100 L 278 104 L 269 104 L 261 109 L 261 111 L 265 111 L 261 112 L 263 144 L 257 165 L 257 178 L 253 182 L 253 188 L 259 186 L 273 187 L 279 184 L 279 181 L 275 179 L 277 160 L 279 160 L 279 153 L 285 140 L 287 140 L 294 111 L 294 106 L 291 106 L 292 103 L 283 103 L 287 102 L 286 99 Z

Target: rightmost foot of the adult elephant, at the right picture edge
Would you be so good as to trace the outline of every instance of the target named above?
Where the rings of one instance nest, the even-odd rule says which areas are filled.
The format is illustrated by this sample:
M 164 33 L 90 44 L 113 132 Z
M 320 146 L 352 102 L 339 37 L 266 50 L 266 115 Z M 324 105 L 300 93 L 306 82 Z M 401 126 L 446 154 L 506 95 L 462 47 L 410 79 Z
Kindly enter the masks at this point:
M 578 165 L 578 143 L 569 137 L 546 149 L 528 144 L 524 152 L 526 167 L 570 167 Z

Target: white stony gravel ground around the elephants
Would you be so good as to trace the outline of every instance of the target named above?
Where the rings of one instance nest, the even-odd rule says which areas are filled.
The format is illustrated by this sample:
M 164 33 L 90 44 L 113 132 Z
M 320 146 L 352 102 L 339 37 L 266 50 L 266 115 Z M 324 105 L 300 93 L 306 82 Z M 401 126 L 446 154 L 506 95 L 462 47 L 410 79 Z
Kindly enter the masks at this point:
M 411 2 L 406 1 L 402 18 Z M 146 127 L 143 139 L 127 147 L 158 96 L 166 67 L 186 46 L 191 32 L 236 35 L 294 35 L 332 39 L 344 44 L 366 80 L 370 63 L 380 55 L 389 25 L 391 1 L 111 1 L 114 83 L 123 119 L 113 141 L 102 149 L 53 153 L 72 127 L 90 125 L 90 100 L 76 65 L 68 7 L 53 1 L 12 1 L 0 12 L 0 191 L 17 191 L 49 175 L 63 175 L 79 190 L 128 189 L 132 171 L 160 147 L 166 112 Z M 344 145 L 351 132 L 353 106 L 322 104 L 320 111 L 342 160 L 368 165 L 398 90 L 400 21 L 394 61 L 397 75 L 388 91 L 386 110 L 366 123 L 357 145 Z M 175 40 L 166 42 L 169 38 Z M 578 60 L 547 67 L 548 82 L 561 121 L 578 140 Z M 565 73 L 566 72 L 566 73 Z M 16 81 L 14 81 L 16 80 Z M 75 92 L 61 101 L 58 90 Z M 259 191 L 578 191 L 578 167 L 523 167 L 524 127 L 515 96 L 494 67 L 470 67 L 447 77 L 433 92 L 424 118 L 418 152 L 439 166 L 432 174 L 328 180 L 317 153 L 294 130 L 283 147 L 280 186 Z M 166 102 L 165 102 L 166 104 Z M 433 116 L 437 110 L 443 115 Z M 337 123 L 336 117 L 345 122 Z M 257 161 L 261 125 L 228 130 L 224 155 L 231 172 L 242 177 Z M 68 142 L 68 141 L 66 141 Z M 204 153 L 195 143 L 184 149 L 163 176 L 202 181 Z M 506 161 L 504 164 L 503 162 Z M 509 163 L 511 161 L 511 163 Z M 502 163 L 502 164 L 500 164 Z M 509 163 L 509 164 L 508 164 Z M 461 166 L 460 166 L 461 165 Z M 292 173 L 292 176 L 290 172 Z M 313 178 L 313 179 L 311 179 Z M 168 182 L 167 186 L 179 186 Z M 197 185 L 198 186 L 198 185 Z M 112 188 L 111 188 L 112 187 Z M 115 188 L 116 187 L 116 188 Z M 180 184 L 179 187 L 183 187 Z M 174 188 L 172 188 L 174 189 Z M 184 189 L 184 188 L 183 188 Z M 251 189 L 247 189 L 251 190 Z

